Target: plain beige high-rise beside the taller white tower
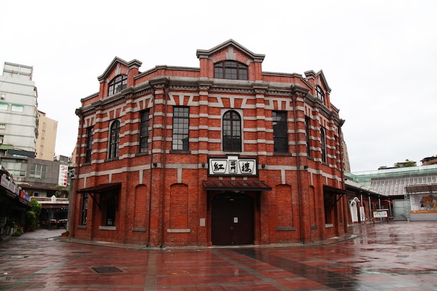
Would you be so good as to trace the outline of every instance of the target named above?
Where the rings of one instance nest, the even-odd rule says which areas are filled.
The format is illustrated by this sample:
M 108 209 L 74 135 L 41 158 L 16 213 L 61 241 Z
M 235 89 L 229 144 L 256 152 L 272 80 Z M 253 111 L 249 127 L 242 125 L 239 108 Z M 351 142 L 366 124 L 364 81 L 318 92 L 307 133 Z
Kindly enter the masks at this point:
M 36 158 L 53 161 L 58 121 L 46 117 L 42 111 L 38 110 L 38 113 L 39 122 L 38 138 L 36 139 Z

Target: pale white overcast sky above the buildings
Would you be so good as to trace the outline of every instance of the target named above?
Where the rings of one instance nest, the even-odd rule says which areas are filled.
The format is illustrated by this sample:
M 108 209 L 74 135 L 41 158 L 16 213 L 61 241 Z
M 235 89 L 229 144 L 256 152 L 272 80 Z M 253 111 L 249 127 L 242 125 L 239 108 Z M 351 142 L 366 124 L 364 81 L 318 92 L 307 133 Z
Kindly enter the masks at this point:
M 17 1 L 0 3 L 0 66 L 34 66 L 38 109 L 71 156 L 75 108 L 114 57 L 198 67 L 232 38 L 262 70 L 323 70 L 351 172 L 437 154 L 437 1 Z

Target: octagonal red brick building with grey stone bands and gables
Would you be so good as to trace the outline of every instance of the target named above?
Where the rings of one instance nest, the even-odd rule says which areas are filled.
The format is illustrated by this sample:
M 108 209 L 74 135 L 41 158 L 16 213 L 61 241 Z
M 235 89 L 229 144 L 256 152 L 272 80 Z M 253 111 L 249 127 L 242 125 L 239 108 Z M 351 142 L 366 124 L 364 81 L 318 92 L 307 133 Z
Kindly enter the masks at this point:
M 234 40 L 199 68 L 116 57 L 83 98 L 71 237 L 148 246 L 346 232 L 343 121 L 323 72 L 262 71 Z

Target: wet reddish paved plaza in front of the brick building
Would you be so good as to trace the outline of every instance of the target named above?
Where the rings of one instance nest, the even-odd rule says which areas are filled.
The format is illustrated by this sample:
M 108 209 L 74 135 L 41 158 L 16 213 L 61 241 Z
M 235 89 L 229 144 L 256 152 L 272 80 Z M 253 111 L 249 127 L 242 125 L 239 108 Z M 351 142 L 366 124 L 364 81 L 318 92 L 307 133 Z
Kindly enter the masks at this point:
M 38 230 L 0 243 L 0 290 L 437 290 L 437 222 L 318 244 L 147 249 Z

